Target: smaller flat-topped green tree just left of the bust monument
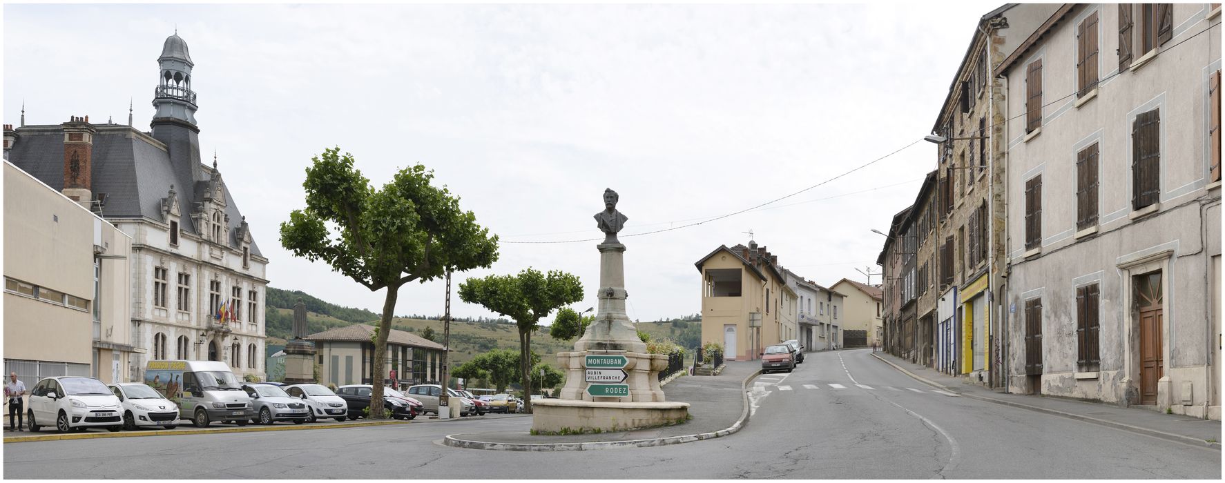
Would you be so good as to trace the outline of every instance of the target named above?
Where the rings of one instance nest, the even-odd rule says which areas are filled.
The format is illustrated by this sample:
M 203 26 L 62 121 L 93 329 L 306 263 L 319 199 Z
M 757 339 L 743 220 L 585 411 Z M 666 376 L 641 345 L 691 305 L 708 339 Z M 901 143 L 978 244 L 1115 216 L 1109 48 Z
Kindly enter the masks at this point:
M 545 275 L 528 268 L 518 275 L 468 279 L 459 284 L 459 300 L 514 320 L 519 329 L 519 377 L 523 390 L 530 394 L 532 333 L 540 329 L 540 319 L 550 312 L 583 300 L 583 284 L 561 270 L 549 270 Z M 526 399 L 523 404 L 526 412 L 532 412 L 532 402 Z

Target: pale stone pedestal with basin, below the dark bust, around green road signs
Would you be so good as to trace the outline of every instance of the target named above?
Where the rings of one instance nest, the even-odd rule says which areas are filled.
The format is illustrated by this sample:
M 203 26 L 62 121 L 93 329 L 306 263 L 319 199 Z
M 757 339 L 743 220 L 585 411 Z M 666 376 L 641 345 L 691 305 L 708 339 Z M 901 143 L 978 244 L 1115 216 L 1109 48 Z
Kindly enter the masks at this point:
M 566 372 L 566 385 L 560 399 L 544 399 L 532 404 L 532 428 L 541 433 L 588 432 L 599 429 L 628 430 L 677 423 L 688 417 L 687 402 L 666 402 L 659 386 L 659 372 L 668 368 L 666 355 L 647 353 L 647 345 L 625 313 L 625 245 L 600 243 L 599 312 L 594 322 L 575 342 L 575 351 L 557 353 L 557 362 Z M 588 356 L 597 356 L 588 367 Z M 624 359 L 622 359 L 624 357 Z M 624 361 L 598 363 L 600 361 Z M 589 383 L 588 369 L 625 372 L 624 382 Z M 599 379 L 599 378 L 594 378 Z M 621 385 L 625 385 L 624 388 Z M 608 388 L 604 388 L 608 386 Z M 615 396 L 600 394 L 614 388 Z M 593 389 L 594 388 L 594 389 Z

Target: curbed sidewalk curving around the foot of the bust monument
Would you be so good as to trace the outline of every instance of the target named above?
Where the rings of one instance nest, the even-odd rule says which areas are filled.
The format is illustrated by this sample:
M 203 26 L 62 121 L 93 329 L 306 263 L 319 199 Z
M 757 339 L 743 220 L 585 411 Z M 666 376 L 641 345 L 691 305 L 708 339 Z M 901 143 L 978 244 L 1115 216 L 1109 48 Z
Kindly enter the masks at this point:
M 737 422 L 744 424 L 741 418 L 747 419 L 744 383 L 761 369 L 761 362 L 728 361 L 725 364 L 719 375 L 685 375 L 664 386 L 668 401 L 690 404 L 692 419 L 681 424 L 599 434 L 532 435 L 527 430 L 452 434 L 445 443 L 459 448 L 570 451 L 601 446 L 655 446 L 731 434 L 740 429 Z

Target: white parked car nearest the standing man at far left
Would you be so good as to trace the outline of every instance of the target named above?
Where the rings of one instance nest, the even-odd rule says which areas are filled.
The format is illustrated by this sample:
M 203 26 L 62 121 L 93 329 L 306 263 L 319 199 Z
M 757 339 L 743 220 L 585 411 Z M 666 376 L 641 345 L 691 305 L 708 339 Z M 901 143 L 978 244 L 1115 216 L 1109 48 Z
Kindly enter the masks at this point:
M 123 406 L 100 380 L 76 375 L 45 378 L 29 393 L 29 430 L 55 422 L 60 433 L 123 428 Z M 42 422 L 42 423 L 40 423 Z

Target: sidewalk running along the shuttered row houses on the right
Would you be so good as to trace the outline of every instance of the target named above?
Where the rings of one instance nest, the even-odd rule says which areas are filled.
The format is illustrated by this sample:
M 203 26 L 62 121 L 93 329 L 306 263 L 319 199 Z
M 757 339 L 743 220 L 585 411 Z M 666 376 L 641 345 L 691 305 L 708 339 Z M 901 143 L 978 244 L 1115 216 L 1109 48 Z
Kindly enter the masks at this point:
M 1125 408 L 1101 402 L 997 393 L 976 383 L 963 382 L 960 377 L 942 374 L 883 351 L 872 355 L 922 383 L 958 393 L 965 397 L 1045 412 L 1197 446 L 1221 449 L 1220 421 L 1164 415 L 1156 411 Z

